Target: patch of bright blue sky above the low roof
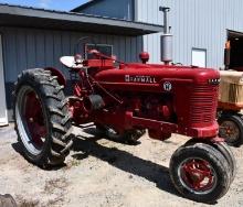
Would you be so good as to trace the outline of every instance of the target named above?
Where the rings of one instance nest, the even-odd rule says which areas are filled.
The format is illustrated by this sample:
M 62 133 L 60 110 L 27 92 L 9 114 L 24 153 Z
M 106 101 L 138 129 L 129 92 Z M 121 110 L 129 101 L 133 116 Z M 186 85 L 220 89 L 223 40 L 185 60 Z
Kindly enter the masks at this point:
M 88 0 L 0 0 L 0 3 L 70 11 Z

